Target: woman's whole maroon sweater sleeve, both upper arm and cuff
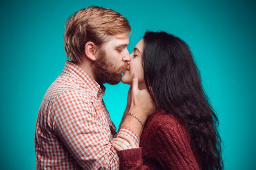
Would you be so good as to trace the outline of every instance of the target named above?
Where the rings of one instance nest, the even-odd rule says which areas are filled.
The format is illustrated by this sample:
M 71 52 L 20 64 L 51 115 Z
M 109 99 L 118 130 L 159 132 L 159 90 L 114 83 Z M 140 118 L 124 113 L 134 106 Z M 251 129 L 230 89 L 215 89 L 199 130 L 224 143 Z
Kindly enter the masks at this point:
M 154 134 L 155 139 L 150 143 L 155 150 L 153 156 L 161 166 L 159 169 L 200 170 L 193 155 L 189 134 L 183 126 L 171 121 L 160 126 Z M 121 150 L 117 153 L 120 170 L 150 170 L 147 161 L 142 159 L 142 148 Z

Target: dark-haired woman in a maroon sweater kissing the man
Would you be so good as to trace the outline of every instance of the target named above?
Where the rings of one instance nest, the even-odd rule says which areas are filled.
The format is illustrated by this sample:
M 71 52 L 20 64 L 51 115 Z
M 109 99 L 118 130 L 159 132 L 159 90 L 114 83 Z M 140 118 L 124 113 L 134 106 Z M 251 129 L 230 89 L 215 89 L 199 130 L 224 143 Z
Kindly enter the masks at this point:
M 166 32 L 146 32 L 131 55 L 122 82 L 132 84 L 137 73 L 157 111 L 142 122 L 139 145 L 126 136 L 113 139 L 120 169 L 222 170 L 218 118 L 188 45 Z

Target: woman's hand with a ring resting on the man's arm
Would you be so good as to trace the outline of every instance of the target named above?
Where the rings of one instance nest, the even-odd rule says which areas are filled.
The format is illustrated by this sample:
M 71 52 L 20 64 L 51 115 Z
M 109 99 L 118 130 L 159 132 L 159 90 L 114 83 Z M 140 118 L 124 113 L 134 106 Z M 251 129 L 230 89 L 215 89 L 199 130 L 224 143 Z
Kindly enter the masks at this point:
M 126 150 L 139 148 L 139 144 L 135 143 L 130 137 L 120 134 L 119 137 L 111 141 L 111 145 L 117 150 Z

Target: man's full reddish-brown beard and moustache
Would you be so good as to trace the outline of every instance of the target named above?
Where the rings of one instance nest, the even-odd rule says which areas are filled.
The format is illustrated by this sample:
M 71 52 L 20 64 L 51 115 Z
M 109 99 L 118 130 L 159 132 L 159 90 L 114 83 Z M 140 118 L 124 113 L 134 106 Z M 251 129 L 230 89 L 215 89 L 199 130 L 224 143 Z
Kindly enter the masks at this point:
M 92 69 L 96 75 L 97 82 L 104 84 L 118 84 L 121 81 L 122 75 L 127 69 L 127 62 L 123 66 L 117 68 L 106 57 L 106 52 L 101 50 L 97 60 L 92 62 Z

